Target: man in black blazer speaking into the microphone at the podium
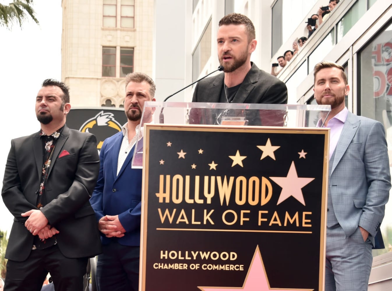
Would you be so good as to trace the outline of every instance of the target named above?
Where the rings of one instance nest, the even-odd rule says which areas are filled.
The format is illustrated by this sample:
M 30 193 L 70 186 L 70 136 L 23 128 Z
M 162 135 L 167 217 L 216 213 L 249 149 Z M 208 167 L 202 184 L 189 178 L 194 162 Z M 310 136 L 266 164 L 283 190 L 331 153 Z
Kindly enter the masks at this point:
M 257 41 L 247 16 L 232 13 L 219 22 L 218 58 L 224 74 L 201 80 L 192 102 L 287 104 L 285 83 L 250 61 Z

